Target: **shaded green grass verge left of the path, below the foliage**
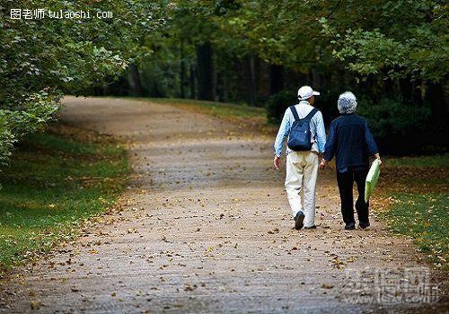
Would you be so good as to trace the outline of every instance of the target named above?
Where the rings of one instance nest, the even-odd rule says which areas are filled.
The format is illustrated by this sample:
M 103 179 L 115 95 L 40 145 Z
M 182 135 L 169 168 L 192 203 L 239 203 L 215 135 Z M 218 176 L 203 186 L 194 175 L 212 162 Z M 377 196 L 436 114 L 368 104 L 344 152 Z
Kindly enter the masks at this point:
M 32 135 L 0 172 L 0 273 L 70 237 L 124 188 L 124 149 L 67 126 Z

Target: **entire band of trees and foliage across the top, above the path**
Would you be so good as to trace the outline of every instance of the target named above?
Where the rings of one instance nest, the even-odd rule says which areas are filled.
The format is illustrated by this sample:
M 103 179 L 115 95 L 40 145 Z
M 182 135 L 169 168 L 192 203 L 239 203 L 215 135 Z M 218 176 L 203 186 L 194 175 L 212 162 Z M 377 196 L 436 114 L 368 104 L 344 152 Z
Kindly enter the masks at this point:
M 13 20 L 12 8 L 113 17 Z M 276 121 L 305 83 L 321 90 L 327 122 L 351 90 L 375 135 L 419 129 L 419 145 L 447 146 L 445 1 L 2 0 L 0 10 L 0 161 L 54 117 L 63 92 L 267 103 Z

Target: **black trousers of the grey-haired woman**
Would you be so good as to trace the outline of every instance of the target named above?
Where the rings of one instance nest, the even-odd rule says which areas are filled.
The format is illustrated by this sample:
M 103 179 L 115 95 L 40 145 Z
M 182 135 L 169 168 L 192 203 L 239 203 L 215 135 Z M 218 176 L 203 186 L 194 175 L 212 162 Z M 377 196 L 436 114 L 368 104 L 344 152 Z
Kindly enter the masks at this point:
M 354 198 L 352 189 L 354 181 L 357 184 L 358 197 L 356 202 L 356 210 L 358 222 L 368 223 L 368 206 L 369 202 L 365 202 L 365 179 L 368 170 L 348 170 L 343 173 L 337 171 L 337 182 L 339 183 L 339 197 L 341 200 L 341 214 L 345 223 L 356 223 L 354 220 Z

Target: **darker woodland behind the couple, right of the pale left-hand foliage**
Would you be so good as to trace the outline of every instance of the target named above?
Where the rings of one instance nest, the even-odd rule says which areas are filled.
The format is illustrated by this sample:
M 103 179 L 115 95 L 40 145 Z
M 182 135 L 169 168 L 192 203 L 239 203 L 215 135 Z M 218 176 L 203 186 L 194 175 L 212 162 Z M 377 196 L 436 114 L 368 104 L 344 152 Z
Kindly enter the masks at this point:
M 267 103 L 274 121 L 299 85 L 321 90 L 328 122 L 351 90 L 385 142 L 420 129 L 418 145 L 447 145 L 448 12 L 430 0 L 172 1 L 133 77 L 143 95 Z

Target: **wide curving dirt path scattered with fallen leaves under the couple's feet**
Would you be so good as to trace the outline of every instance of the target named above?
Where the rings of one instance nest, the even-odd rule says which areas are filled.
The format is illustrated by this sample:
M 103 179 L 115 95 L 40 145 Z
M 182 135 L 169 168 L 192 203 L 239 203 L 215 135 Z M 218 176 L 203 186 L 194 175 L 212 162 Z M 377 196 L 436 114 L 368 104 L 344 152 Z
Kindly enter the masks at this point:
M 366 301 L 375 274 L 426 265 L 375 216 L 369 231 L 343 231 L 332 170 L 318 180 L 318 229 L 295 231 L 285 170 L 271 169 L 273 138 L 140 100 L 65 103 L 67 122 L 128 141 L 136 178 L 122 212 L 15 270 L 0 312 L 446 310 Z

